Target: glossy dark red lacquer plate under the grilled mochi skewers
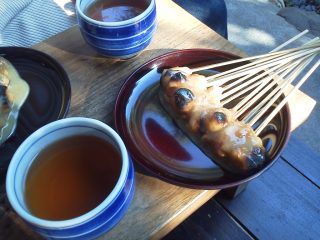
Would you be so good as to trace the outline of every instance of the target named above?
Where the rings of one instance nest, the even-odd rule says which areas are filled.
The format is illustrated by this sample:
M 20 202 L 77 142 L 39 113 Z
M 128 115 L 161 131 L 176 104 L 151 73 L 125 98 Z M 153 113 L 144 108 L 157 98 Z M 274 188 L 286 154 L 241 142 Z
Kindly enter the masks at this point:
M 150 60 L 127 78 L 116 100 L 115 125 L 137 163 L 152 175 L 176 185 L 222 189 L 259 176 L 279 158 L 290 136 L 287 105 L 262 137 L 267 145 L 268 160 L 263 168 L 247 176 L 230 175 L 216 165 L 186 137 L 160 105 L 158 90 L 163 69 L 196 67 L 236 58 L 239 57 L 209 49 L 179 50 Z

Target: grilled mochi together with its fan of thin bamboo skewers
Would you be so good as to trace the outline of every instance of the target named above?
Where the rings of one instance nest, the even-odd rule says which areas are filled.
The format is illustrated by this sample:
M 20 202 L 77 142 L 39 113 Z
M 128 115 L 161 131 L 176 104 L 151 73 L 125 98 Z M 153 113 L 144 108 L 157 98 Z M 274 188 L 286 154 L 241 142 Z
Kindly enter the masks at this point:
M 320 65 L 318 60 L 300 76 L 320 53 L 319 38 L 281 50 L 306 32 L 268 54 L 191 69 L 166 69 L 160 79 L 160 102 L 190 139 L 226 171 L 255 171 L 267 157 L 258 135 Z M 223 66 L 229 70 L 219 72 Z M 218 73 L 201 75 L 209 69 Z M 299 82 L 288 91 L 298 77 Z

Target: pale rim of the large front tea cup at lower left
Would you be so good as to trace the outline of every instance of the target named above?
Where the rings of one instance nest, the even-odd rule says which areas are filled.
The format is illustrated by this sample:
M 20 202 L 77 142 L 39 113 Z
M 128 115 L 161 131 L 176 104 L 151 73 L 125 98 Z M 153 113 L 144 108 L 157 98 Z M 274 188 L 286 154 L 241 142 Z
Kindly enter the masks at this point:
M 36 217 L 29 213 L 27 210 L 25 210 L 15 193 L 15 173 L 16 169 L 20 163 L 21 156 L 25 153 L 25 151 L 28 149 L 28 147 L 39 140 L 41 136 L 43 136 L 48 131 L 57 130 L 61 126 L 72 126 L 77 124 L 83 125 L 83 126 L 98 126 L 102 129 L 106 130 L 110 134 L 110 136 L 115 140 L 115 142 L 118 144 L 121 159 L 122 159 L 122 167 L 120 171 L 120 176 L 112 189 L 112 191 L 107 195 L 107 197 L 95 208 L 91 209 L 89 212 L 82 214 L 78 217 L 67 219 L 67 220 L 46 220 L 39 217 Z M 28 160 L 25 160 L 28 161 Z M 12 160 L 10 162 L 8 171 L 7 171 L 7 177 L 6 177 L 6 192 L 7 197 L 9 199 L 9 202 L 13 209 L 18 213 L 19 216 L 21 216 L 24 220 L 27 222 L 44 227 L 46 229 L 57 229 L 57 228 L 68 228 L 73 227 L 75 225 L 83 224 L 87 222 L 88 220 L 92 219 L 96 215 L 100 214 L 107 206 L 109 206 L 119 195 L 123 187 L 125 186 L 126 178 L 129 173 L 129 156 L 128 152 L 125 148 L 125 145 L 120 138 L 120 136 L 116 133 L 115 130 L 113 130 L 111 127 L 106 125 L 105 123 L 91 118 L 85 118 L 85 117 L 71 117 L 71 118 L 65 118 L 61 120 L 57 120 L 54 122 L 51 122 L 34 133 L 32 133 L 24 142 L 19 146 L 17 151 L 15 152 L 14 156 L 12 157 Z

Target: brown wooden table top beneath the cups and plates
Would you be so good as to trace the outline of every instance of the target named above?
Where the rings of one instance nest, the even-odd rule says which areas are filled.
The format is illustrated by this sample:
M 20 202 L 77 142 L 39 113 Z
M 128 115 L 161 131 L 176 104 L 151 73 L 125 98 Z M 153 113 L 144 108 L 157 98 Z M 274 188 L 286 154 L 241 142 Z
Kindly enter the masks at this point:
M 158 29 L 152 43 L 139 56 L 128 61 L 111 60 L 96 54 L 84 43 L 77 26 L 34 46 L 57 59 L 71 79 L 69 117 L 95 118 L 112 126 L 114 101 L 126 77 L 149 59 L 166 52 L 186 48 L 211 48 L 245 56 L 172 1 L 158 0 L 157 11 Z M 305 109 L 307 113 L 315 105 L 311 98 L 299 92 L 292 104 L 297 108 L 302 103 L 301 109 Z M 295 111 L 292 112 L 292 117 L 293 127 L 305 120 L 305 117 Z M 136 193 L 129 211 L 102 239 L 159 239 L 218 192 L 182 188 L 140 173 L 136 173 L 136 179 Z M 5 212 L 5 217 L 18 223 L 19 231 L 25 234 L 22 235 L 24 238 L 38 237 L 10 209 L 5 209 Z M 8 238 L 17 235 L 17 231 L 6 231 Z

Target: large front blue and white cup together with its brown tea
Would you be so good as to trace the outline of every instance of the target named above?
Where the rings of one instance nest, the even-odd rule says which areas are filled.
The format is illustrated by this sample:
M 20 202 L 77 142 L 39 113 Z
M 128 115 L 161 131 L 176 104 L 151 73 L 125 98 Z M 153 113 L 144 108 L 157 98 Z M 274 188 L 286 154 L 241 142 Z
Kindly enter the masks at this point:
M 134 170 L 113 129 L 94 119 L 67 118 L 22 143 L 6 190 L 13 209 L 44 237 L 94 238 L 125 214 Z

